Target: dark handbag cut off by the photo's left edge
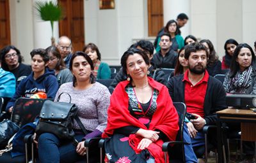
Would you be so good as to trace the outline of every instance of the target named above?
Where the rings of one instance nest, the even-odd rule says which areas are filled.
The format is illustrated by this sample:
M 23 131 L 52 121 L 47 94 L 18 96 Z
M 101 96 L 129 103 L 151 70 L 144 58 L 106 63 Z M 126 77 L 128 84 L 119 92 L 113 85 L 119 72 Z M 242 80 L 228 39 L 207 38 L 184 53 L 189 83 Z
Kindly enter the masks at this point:
M 20 127 L 10 120 L 3 120 L 0 122 L 0 149 L 3 149 L 8 140 L 18 132 Z

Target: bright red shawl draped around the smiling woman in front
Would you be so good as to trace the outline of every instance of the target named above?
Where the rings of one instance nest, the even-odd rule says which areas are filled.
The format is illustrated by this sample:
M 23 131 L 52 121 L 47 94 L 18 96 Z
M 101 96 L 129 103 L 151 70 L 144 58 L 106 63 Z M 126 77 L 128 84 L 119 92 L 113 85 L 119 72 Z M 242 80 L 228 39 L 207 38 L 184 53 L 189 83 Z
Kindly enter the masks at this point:
M 170 141 L 174 141 L 179 131 L 179 117 L 175 110 L 172 99 L 169 95 L 168 89 L 148 77 L 148 83 L 154 89 L 159 90 L 157 96 L 157 110 L 155 111 L 148 130 L 155 131 L 156 129 L 162 131 Z M 147 127 L 142 124 L 138 119 L 132 117 L 128 110 L 129 97 L 125 92 L 125 87 L 129 84 L 129 81 L 122 81 L 118 83 L 115 91 L 110 98 L 110 106 L 108 108 L 108 125 L 102 134 L 102 138 L 108 138 L 113 134 L 115 129 L 125 126 L 136 126 L 141 129 Z M 129 144 L 134 145 L 132 148 L 136 151 L 138 144 L 142 137 L 131 134 L 129 136 Z M 148 146 L 147 150 L 154 157 L 156 163 L 164 162 L 164 153 L 162 152 L 163 141 L 158 140 Z

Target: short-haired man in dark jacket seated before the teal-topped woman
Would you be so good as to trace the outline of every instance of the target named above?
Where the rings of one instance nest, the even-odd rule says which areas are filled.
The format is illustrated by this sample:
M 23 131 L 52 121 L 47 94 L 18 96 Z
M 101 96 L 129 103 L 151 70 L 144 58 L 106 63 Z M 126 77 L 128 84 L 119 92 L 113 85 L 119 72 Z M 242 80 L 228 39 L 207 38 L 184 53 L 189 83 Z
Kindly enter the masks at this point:
M 177 52 L 172 50 L 172 38 L 170 34 L 164 33 L 160 37 L 159 46 L 161 50 L 154 54 L 152 62 L 156 68 L 174 69 L 177 59 Z

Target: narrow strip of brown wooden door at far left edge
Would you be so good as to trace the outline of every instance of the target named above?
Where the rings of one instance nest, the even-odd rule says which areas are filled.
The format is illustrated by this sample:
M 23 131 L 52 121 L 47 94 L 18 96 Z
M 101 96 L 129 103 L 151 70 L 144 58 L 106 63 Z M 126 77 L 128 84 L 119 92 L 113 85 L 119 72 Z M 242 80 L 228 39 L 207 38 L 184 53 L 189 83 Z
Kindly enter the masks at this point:
M 0 0 L 0 49 L 10 43 L 9 0 Z

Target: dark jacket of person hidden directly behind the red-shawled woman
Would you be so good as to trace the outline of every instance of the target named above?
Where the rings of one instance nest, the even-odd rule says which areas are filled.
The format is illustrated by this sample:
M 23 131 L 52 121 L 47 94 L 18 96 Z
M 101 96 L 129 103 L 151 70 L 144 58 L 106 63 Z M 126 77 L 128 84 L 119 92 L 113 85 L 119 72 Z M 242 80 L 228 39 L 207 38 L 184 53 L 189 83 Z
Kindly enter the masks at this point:
M 148 71 L 150 72 L 148 74 L 148 76 L 150 76 L 151 78 L 153 77 L 154 74 L 154 66 L 150 66 Z M 124 81 L 127 80 L 127 74 L 125 74 L 123 72 L 123 69 L 120 68 L 120 70 L 118 71 L 118 73 L 116 74 L 114 80 L 112 81 L 111 85 L 108 87 L 109 89 L 115 89 L 116 85 L 120 82 L 120 81 Z M 159 83 L 162 83 L 163 85 L 166 85 L 167 81 L 164 78 L 164 72 L 163 71 L 157 71 L 156 73 L 156 77 L 154 78 L 154 80 L 158 81 Z

